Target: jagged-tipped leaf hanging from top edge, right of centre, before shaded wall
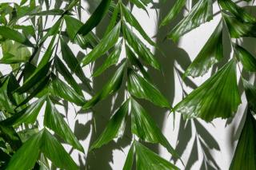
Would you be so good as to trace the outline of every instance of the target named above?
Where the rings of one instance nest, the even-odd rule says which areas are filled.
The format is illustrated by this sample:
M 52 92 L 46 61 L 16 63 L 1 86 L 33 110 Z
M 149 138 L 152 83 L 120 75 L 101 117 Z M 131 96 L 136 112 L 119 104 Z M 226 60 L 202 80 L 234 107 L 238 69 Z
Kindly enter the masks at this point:
M 182 7 L 185 6 L 186 0 L 177 0 L 172 6 L 170 12 L 166 15 L 165 18 L 163 18 L 160 26 L 166 26 L 171 20 L 176 18 L 178 13 L 182 10 Z

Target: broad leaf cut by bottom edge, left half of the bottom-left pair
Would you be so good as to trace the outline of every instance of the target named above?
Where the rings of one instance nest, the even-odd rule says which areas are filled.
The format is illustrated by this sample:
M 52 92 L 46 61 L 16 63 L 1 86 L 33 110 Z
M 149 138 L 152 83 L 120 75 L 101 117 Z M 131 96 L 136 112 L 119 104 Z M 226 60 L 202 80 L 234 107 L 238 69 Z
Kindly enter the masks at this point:
M 27 170 L 34 168 L 42 144 L 42 134 L 43 131 L 38 132 L 30 137 L 29 140 L 26 140 L 25 144 L 18 149 L 18 152 L 15 152 L 14 156 L 11 157 L 6 170 Z M 30 158 L 30 161 L 27 160 L 28 158 Z

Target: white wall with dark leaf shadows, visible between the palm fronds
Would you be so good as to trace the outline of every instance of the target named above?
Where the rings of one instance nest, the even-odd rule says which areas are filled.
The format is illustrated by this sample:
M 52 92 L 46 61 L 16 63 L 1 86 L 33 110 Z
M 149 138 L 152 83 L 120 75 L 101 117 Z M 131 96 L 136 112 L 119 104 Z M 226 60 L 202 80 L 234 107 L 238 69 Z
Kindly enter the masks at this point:
M 0 2 L 18 3 L 20 1 L 0 0 Z M 88 13 L 85 13 L 82 16 L 83 22 L 86 22 L 86 19 L 89 18 L 90 12 L 94 11 L 98 2 L 100 1 L 82 2 L 82 6 L 88 10 Z M 190 33 L 184 35 L 178 43 L 174 43 L 170 40 L 165 40 L 165 36 L 168 31 L 173 28 L 175 23 L 177 23 L 182 18 L 182 16 L 187 14 L 186 10 L 184 10 L 182 14 L 180 14 L 172 24 L 170 24 L 170 26 L 159 29 L 159 19 L 161 19 L 168 12 L 168 10 L 170 10 L 170 6 L 173 6 L 174 2 L 167 1 L 166 4 L 158 3 L 157 1 L 154 2 L 154 6 L 158 9 L 155 10 L 154 8 L 151 8 L 152 6 L 150 5 L 147 8 L 149 15 L 146 14 L 145 11 L 136 7 L 133 8 L 132 13 L 138 19 L 146 33 L 154 39 L 160 49 L 162 49 L 162 52 L 166 55 L 166 57 L 163 57 L 159 51 L 151 48 L 148 45 L 155 53 L 156 57 L 158 57 L 158 60 L 161 62 L 165 75 L 162 75 L 153 69 L 149 69 L 149 72 L 153 76 L 155 85 L 158 86 L 158 88 L 162 91 L 162 93 L 165 94 L 165 96 L 174 106 L 178 103 L 178 101 L 182 100 L 182 85 L 186 90 L 186 93 L 190 93 L 192 89 L 198 85 L 201 85 L 202 82 L 206 81 L 206 79 L 210 77 L 210 74 L 214 72 L 210 70 L 204 77 L 190 77 L 190 81 L 183 83 L 182 85 L 178 77 L 178 70 L 183 72 L 184 69 L 186 69 L 186 67 L 190 64 L 190 62 L 194 60 L 194 57 L 196 57 L 200 49 L 202 49 L 202 45 L 206 43 L 210 37 L 210 34 L 218 25 L 220 14 L 218 14 L 218 5 L 216 2 L 214 2 L 214 14 L 216 14 L 214 15 L 214 20 L 202 24 L 202 26 L 199 26 L 197 29 L 192 30 Z M 191 5 L 191 2 L 187 2 L 186 8 L 190 9 Z M 105 20 L 107 21 L 107 19 Z M 50 22 L 47 23 L 47 26 L 52 26 L 52 23 L 54 23 L 54 18 L 52 18 L 52 20 L 49 19 L 49 21 Z M 99 26 L 100 29 L 95 30 L 99 37 L 101 37 L 102 33 L 104 33 L 106 24 L 107 22 L 102 22 Z M 232 53 L 230 53 L 229 40 L 226 35 L 224 35 L 223 39 L 224 48 L 226 49 L 225 55 L 226 57 L 229 57 L 232 55 Z M 246 38 L 244 42 L 240 41 L 240 43 L 246 45 L 247 48 L 250 49 L 250 52 L 255 54 L 255 49 L 251 45 L 254 43 L 253 39 Z M 76 54 L 86 53 L 86 51 L 79 49 L 78 45 L 69 45 L 73 52 Z M 122 56 L 124 54 L 125 53 L 122 53 Z M 94 68 L 97 68 L 97 66 L 101 63 L 102 61 L 97 61 L 94 65 Z M 176 69 L 174 69 L 174 67 Z M 6 67 L 6 65 L 0 65 L 0 70 L 4 73 L 8 73 L 10 68 Z M 84 71 L 86 72 L 86 75 L 90 77 L 90 72 L 92 70 L 89 67 L 86 67 L 84 68 Z M 114 69 L 110 69 L 110 73 L 106 73 L 106 75 L 93 80 L 92 85 L 94 85 L 94 89 L 96 89 L 96 91 L 101 89 L 102 85 L 104 85 L 110 75 L 114 73 L 113 71 Z M 123 137 L 122 140 L 115 140 L 114 142 L 110 142 L 110 144 L 97 149 L 95 152 L 87 153 L 90 143 L 93 142 L 102 132 L 104 127 L 106 127 L 106 123 L 110 117 L 110 114 L 113 113 L 114 109 L 116 109 L 116 105 L 120 104 L 121 100 L 118 97 L 120 97 L 120 95 L 114 96 L 112 99 L 102 101 L 95 107 L 94 115 L 92 113 L 79 113 L 78 116 L 75 117 L 75 113 L 79 110 L 78 107 L 68 104 L 66 105 L 67 112 L 62 107 L 58 107 L 61 113 L 67 115 L 66 121 L 68 121 L 70 127 L 74 129 L 76 136 L 78 136 L 78 139 L 81 141 L 83 147 L 86 150 L 86 154 L 83 154 L 76 150 L 72 150 L 69 145 L 64 144 L 67 152 L 70 152 L 74 160 L 80 164 L 81 169 L 85 169 L 86 166 L 89 169 L 122 169 L 122 166 L 126 160 L 127 151 L 130 148 L 130 141 L 129 139 L 126 139 L 126 137 Z M 86 98 L 89 99 L 90 95 L 86 95 Z M 158 126 L 162 128 L 162 132 L 170 141 L 170 144 L 172 144 L 174 147 L 178 145 L 178 152 L 183 151 L 182 160 L 185 164 L 187 164 L 186 169 L 199 169 L 202 165 L 203 159 L 205 159 L 206 154 L 203 152 L 202 146 L 198 143 L 198 141 L 194 143 L 195 137 L 198 136 L 198 132 L 196 130 L 198 127 L 194 126 L 194 124 L 191 124 L 187 125 L 190 128 L 186 129 L 185 121 L 181 120 L 179 113 L 176 113 L 174 120 L 173 115 L 170 114 L 170 116 L 168 116 L 168 113 L 164 109 L 155 108 L 148 103 L 143 105 L 146 106 L 146 109 L 150 112 L 150 115 L 154 117 L 155 121 L 157 121 Z M 200 134 L 202 134 L 203 137 L 206 137 L 205 143 L 208 144 L 207 150 L 209 151 L 210 156 L 212 156 L 211 159 L 207 159 L 210 162 L 209 164 L 214 164 L 211 161 L 214 160 L 215 163 L 218 164 L 218 168 L 229 168 L 230 161 L 234 154 L 234 148 L 237 143 L 236 141 L 238 140 L 239 133 L 241 132 L 241 125 L 243 125 L 242 115 L 245 109 L 246 99 L 244 93 L 242 93 L 242 105 L 239 106 L 238 112 L 236 113 L 234 119 L 216 119 L 210 124 L 206 124 L 204 121 L 198 120 L 202 125 L 202 127 L 199 127 L 201 129 Z M 43 110 L 38 117 L 41 128 L 42 119 Z M 96 121 L 96 125 L 94 125 L 94 121 Z M 129 128 L 129 126 L 126 128 Z M 215 141 L 217 141 L 217 143 Z M 155 146 L 154 144 L 150 144 L 149 147 L 152 148 L 155 152 L 159 152 L 162 157 L 166 158 L 166 160 L 170 160 L 170 154 L 166 151 L 165 148 L 162 148 L 161 146 Z M 179 168 L 185 168 L 180 161 L 177 161 L 176 165 Z

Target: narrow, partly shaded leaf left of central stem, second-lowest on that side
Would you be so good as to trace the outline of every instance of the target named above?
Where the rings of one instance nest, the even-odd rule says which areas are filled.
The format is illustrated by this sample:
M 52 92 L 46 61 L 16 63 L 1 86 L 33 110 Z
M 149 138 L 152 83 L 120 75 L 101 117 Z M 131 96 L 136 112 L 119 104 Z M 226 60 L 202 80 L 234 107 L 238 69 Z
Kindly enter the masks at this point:
M 111 77 L 110 81 L 108 81 L 106 85 L 104 85 L 102 90 L 96 93 L 95 96 L 90 99 L 90 101 L 87 101 L 86 105 L 82 106 L 82 109 L 90 109 L 91 107 L 96 105 L 98 101 L 102 101 L 106 97 L 110 96 L 112 93 L 115 93 L 122 85 L 122 78 L 125 67 L 126 62 L 124 62 L 119 67 L 119 69 L 114 73 L 114 76 Z

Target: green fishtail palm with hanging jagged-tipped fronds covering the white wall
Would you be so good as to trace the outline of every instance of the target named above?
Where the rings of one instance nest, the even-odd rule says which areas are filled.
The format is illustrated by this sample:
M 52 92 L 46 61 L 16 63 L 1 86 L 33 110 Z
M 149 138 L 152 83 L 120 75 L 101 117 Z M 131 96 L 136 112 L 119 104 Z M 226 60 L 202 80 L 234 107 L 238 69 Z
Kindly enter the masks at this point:
M 206 142 L 201 133 L 203 127 L 196 118 L 210 122 L 218 117 L 234 117 L 241 104 L 238 67 L 248 107 L 230 169 L 256 169 L 256 89 L 244 76 L 246 72 L 256 71 L 256 58 L 239 44 L 242 38 L 256 35 L 256 18 L 231 0 L 218 0 L 216 3 L 222 15 L 218 26 L 184 73 L 174 69 L 182 81 L 186 81 L 190 76 L 206 74 L 213 65 L 221 63 L 222 66 L 174 106 L 155 85 L 148 71 L 155 69 L 159 75 L 164 73 L 149 46 L 158 51 L 162 49 L 146 34 L 131 12 L 133 6 L 137 6 L 147 13 L 146 9 L 154 4 L 153 1 L 102 0 L 86 22 L 82 22 L 85 9 L 83 1 L 79 0 L 1 3 L 0 62 L 8 65 L 11 71 L 1 73 L 0 77 L 0 167 L 78 169 L 62 143 L 79 152 L 85 150 L 58 108 L 67 109 L 71 104 L 79 109 L 76 114 L 94 114 L 97 105 L 112 97 L 116 100 L 114 109 L 111 109 L 112 116 L 106 128 L 90 144 L 88 152 L 101 149 L 102 145 L 116 138 L 126 137 L 130 141 L 130 149 L 123 169 L 184 168 L 175 165 L 177 160 L 182 162 L 182 152 L 177 152 L 162 134 L 161 128 L 150 116 L 150 110 L 143 105 L 147 102 L 173 115 L 182 113 L 186 125 L 194 124 L 197 130 L 194 144 L 198 140 L 204 153 L 202 168 L 218 169 L 218 164 L 206 154 Z M 177 42 L 190 30 L 210 22 L 214 18 L 213 4 L 211 0 L 196 2 L 188 14 L 169 33 L 166 32 L 166 38 Z M 170 24 L 185 5 L 185 0 L 176 0 L 160 26 Z M 99 38 L 94 28 L 101 27 L 103 21 L 107 25 Z M 231 58 L 223 54 L 225 29 L 234 52 Z M 75 54 L 71 45 L 77 45 L 78 50 L 86 54 Z M 101 65 L 96 67 L 98 61 Z M 93 73 L 86 71 L 92 68 Z M 101 89 L 95 89 L 94 79 L 110 69 L 111 76 Z M 118 101 L 118 96 L 122 96 L 121 101 Z M 43 116 L 42 126 L 38 123 L 39 113 Z M 180 132 L 186 130 L 182 125 L 185 125 L 184 121 L 181 122 Z M 161 144 L 174 161 L 163 159 L 147 146 L 149 143 Z M 209 164 L 209 160 L 214 165 Z

